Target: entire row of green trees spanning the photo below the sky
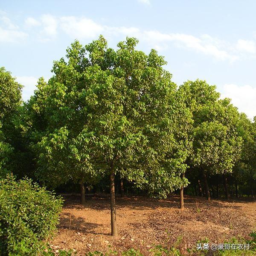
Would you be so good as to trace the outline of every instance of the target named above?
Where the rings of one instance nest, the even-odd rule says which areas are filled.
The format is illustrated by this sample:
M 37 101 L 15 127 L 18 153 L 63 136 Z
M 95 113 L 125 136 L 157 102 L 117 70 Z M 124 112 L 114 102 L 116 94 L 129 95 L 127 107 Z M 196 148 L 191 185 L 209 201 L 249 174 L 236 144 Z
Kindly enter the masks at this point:
M 28 102 L 0 68 L 0 175 L 64 191 L 79 184 L 82 204 L 90 187 L 110 192 L 113 236 L 116 190 L 179 191 L 183 209 L 184 189 L 210 200 L 253 197 L 256 188 L 256 119 L 206 81 L 177 87 L 163 56 L 137 43 L 127 38 L 114 50 L 102 36 L 75 41 Z

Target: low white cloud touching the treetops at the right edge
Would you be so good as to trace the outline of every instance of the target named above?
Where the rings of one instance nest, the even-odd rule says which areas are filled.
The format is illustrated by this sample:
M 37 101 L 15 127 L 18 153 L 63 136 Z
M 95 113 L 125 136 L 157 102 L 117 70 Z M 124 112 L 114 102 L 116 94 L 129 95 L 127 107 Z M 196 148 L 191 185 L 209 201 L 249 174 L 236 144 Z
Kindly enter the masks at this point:
M 239 86 L 237 84 L 225 84 L 221 98 L 232 99 L 240 112 L 244 112 L 250 119 L 256 116 L 256 87 L 251 85 Z

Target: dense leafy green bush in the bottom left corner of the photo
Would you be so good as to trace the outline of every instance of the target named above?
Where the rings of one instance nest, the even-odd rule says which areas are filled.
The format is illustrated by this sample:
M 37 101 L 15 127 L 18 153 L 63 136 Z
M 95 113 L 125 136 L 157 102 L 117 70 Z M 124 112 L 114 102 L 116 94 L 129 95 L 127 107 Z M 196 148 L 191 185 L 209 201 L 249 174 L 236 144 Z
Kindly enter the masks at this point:
M 0 255 L 37 255 L 53 234 L 62 199 L 32 180 L 0 180 Z

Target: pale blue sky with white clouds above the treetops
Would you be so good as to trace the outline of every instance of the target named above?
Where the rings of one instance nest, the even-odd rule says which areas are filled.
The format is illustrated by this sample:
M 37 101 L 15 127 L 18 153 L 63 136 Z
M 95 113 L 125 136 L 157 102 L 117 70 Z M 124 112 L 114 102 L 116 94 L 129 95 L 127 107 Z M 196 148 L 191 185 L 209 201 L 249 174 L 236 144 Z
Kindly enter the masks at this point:
M 78 39 L 100 34 L 116 47 L 126 36 L 138 49 L 157 49 L 178 85 L 204 79 L 239 111 L 256 116 L 254 0 L 1 0 L 0 66 L 24 85 L 29 99 L 39 77 Z

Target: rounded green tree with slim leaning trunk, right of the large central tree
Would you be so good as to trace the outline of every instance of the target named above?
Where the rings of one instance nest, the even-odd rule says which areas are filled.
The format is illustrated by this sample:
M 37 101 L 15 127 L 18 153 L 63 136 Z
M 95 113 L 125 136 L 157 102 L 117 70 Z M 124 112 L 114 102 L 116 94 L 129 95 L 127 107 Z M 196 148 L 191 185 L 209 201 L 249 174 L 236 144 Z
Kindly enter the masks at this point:
M 215 86 L 206 81 L 187 81 L 179 90 L 193 114 L 193 150 L 189 162 L 204 177 L 205 192 L 210 200 L 207 176 L 231 172 L 239 157 L 238 111 L 229 99 L 220 100 Z M 226 189 L 227 191 L 227 189 Z

